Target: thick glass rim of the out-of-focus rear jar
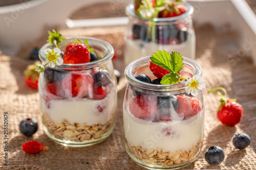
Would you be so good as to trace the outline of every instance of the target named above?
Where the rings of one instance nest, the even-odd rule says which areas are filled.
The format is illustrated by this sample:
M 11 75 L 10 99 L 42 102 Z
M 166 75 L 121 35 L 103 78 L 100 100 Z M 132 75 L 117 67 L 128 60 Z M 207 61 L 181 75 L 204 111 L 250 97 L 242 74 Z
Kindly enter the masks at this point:
M 127 6 L 126 6 L 126 15 L 129 15 L 129 16 L 133 16 L 133 17 L 136 17 L 136 18 L 139 18 L 140 20 L 143 20 L 143 21 L 154 21 L 154 22 L 170 22 L 170 21 L 177 21 L 177 20 L 181 20 L 181 19 L 185 19 L 189 16 L 191 16 L 194 12 L 194 8 L 191 4 L 185 2 L 183 3 L 186 7 L 187 7 L 187 11 L 181 15 L 178 15 L 178 16 L 174 16 L 174 17 L 166 17 L 166 18 L 152 18 L 152 19 L 145 19 L 145 18 L 142 18 L 142 17 L 139 17 L 138 15 L 136 15 L 136 13 L 134 12 L 134 4 L 133 2 L 129 3 Z

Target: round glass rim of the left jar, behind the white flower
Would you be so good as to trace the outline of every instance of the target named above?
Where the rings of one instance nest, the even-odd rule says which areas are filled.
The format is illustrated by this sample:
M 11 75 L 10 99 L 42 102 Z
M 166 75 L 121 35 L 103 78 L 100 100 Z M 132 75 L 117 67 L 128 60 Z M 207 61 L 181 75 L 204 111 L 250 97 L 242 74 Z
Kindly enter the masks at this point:
M 75 40 L 75 39 L 79 39 L 79 40 L 87 39 L 88 44 L 90 46 L 92 46 L 92 44 L 94 44 L 94 45 L 98 45 L 98 46 L 104 48 L 104 50 L 106 50 L 105 56 L 103 56 L 99 60 L 88 62 L 88 63 L 80 63 L 80 64 L 65 64 L 65 63 L 63 63 L 62 65 L 55 66 L 56 68 L 61 68 L 61 69 L 68 69 L 68 68 L 76 69 L 76 68 L 84 68 L 84 67 L 93 68 L 95 66 L 104 64 L 108 60 L 112 59 L 113 56 L 114 56 L 113 46 L 109 42 L 106 42 L 106 41 L 101 40 L 99 38 L 86 37 L 86 36 L 65 37 L 65 40 L 62 40 L 60 45 L 65 44 L 65 43 L 69 43 L 69 42 L 71 42 L 72 40 Z M 40 48 L 38 56 L 39 56 L 39 59 L 41 61 L 46 61 L 46 56 L 45 56 L 45 53 L 44 53 L 46 48 L 52 48 L 52 44 L 48 42 Z

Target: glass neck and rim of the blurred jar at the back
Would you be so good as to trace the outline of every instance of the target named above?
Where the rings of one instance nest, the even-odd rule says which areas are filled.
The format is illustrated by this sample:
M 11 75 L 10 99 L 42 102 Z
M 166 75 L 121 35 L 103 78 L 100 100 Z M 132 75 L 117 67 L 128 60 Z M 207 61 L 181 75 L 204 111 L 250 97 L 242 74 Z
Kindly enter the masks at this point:
M 138 15 L 136 15 L 136 13 L 134 12 L 133 2 L 131 2 L 129 5 L 126 6 L 125 13 L 129 17 L 133 17 L 133 18 L 140 20 L 140 22 L 154 21 L 155 25 L 163 25 L 165 22 L 167 22 L 168 24 L 170 22 L 181 23 L 181 22 L 186 22 L 187 20 L 191 19 L 191 16 L 194 12 L 194 8 L 192 5 L 190 5 L 189 3 L 186 3 L 186 2 L 184 3 L 184 5 L 187 9 L 186 12 L 179 16 L 175 16 L 175 17 L 152 18 L 152 19 L 141 18 Z

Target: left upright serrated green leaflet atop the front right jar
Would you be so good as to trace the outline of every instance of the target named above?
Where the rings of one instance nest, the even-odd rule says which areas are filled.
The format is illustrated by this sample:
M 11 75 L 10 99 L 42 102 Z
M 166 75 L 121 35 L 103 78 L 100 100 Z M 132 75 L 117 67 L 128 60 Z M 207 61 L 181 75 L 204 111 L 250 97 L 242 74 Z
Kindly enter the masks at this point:
M 170 71 L 170 72 L 174 72 L 173 68 L 174 68 L 174 63 L 173 61 L 170 59 L 170 55 L 168 52 L 166 51 L 160 51 L 158 50 L 157 53 L 154 53 L 152 55 L 152 57 L 150 57 L 151 62 L 159 65 L 160 67 Z

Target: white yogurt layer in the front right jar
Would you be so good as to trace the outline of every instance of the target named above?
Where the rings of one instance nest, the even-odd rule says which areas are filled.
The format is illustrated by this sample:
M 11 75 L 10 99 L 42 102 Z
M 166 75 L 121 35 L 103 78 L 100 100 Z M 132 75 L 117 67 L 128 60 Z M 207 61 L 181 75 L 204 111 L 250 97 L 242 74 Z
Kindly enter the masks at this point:
M 203 111 L 181 122 L 150 122 L 124 109 L 124 136 L 128 143 L 150 150 L 176 152 L 197 145 L 204 134 Z

